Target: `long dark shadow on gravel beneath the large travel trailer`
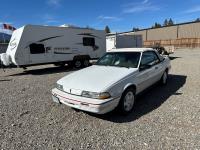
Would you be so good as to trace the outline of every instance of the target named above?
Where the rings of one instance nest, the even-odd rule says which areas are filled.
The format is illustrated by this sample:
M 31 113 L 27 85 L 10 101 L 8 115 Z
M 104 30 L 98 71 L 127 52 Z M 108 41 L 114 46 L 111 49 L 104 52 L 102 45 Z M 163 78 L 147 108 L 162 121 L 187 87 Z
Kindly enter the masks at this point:
M 69 66 L 48 67 L 48 68 L 41 68 L 41 69 L 24 70 L 23 72 L 11 74 L 9 76 L 46 75 L 46 74 L 55 74 L 55 73 L 70 72 L 70 71 L 76 71 L 76 70 L 78 70 L 78 69 L 72 68 L 72 67 L 69 67 Z

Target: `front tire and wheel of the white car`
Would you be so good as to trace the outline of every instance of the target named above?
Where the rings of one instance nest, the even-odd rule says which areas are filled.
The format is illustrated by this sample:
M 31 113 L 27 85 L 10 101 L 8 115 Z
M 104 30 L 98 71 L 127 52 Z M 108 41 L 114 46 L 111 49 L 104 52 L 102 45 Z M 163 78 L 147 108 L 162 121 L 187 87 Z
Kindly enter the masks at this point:
M 120 99 L 119 105 L 118 105 L 118 111 L 123 114 L 127 115 L 129 114 L 134 107 L 135 104 L 135 89 L 134 88 L 128 88 L 123 94 Z

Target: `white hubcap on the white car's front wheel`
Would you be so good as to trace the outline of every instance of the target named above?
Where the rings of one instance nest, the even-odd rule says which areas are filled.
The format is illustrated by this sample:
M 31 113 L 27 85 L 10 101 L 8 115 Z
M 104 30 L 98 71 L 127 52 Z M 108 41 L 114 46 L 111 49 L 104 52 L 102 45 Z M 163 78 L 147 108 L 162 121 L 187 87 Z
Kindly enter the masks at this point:
M 133 92 L 129 91 L 124 97 L 124 109 L 126 111 L 130 111 L 133 108 L 134 102 L 135 102 L 135 96 Z

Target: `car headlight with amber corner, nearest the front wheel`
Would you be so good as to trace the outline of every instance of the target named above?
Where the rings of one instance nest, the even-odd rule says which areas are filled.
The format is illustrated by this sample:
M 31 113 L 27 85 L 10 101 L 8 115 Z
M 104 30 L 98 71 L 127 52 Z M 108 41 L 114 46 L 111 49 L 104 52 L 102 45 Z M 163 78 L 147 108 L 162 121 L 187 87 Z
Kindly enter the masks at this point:
M 88 92 L 88 91 L 83 91 L 82 96 L 88 97 L 88 98 L 95 98 L 95 99 L 107 99 L 111 97 L 108 92 L 96 93 L 96 92 Z

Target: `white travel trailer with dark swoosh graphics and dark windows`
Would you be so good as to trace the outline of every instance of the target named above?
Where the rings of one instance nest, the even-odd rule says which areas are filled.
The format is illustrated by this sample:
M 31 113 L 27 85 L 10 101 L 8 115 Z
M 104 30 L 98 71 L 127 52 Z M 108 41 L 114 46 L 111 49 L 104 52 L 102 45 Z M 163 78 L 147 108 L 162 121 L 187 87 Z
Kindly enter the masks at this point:
M 13 32 L 6 53 L 0 55 L 4 66 L 73 64 L 88 66 L 90 59 L 106 52 L 106 36 L 101 30 L 78 27 L 26 25 Z

